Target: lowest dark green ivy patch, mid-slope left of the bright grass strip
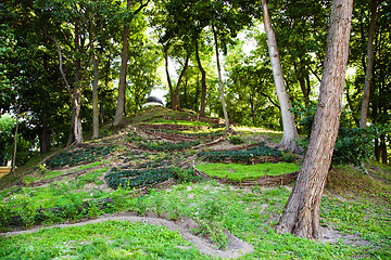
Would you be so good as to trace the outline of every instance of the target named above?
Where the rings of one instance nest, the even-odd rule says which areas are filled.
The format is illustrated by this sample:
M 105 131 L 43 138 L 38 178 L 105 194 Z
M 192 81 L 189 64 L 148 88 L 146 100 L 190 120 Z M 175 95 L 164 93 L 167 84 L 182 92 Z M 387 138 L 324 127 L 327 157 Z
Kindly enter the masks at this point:
M 112 188 L 117 188 L 119 185 L 124 188 L 152 185 L 171 178 L 175 178 L 175 173 L 169 168 L 149 170 L 119 170 L 113 168 L 104 177 Z

